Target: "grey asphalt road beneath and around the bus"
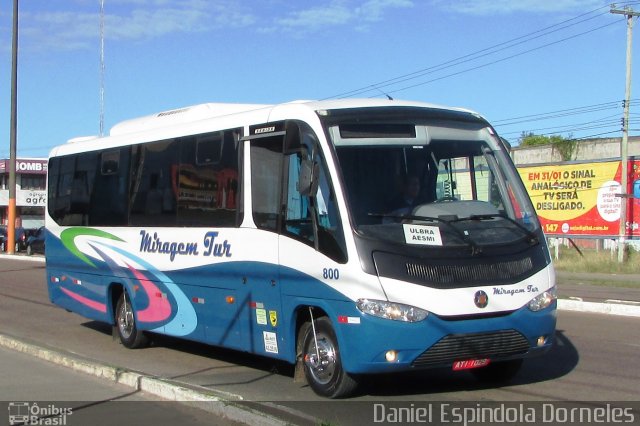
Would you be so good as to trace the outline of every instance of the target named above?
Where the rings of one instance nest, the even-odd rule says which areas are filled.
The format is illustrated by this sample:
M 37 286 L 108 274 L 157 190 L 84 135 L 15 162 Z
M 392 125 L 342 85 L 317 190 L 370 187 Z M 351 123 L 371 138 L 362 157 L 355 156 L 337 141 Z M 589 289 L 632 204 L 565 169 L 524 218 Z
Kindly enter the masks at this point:
M 349 401 L 317 397 L 294 383 L 290 366 L 270 359 L 166 337 L 128 350 L 110 327 L 51 305 L 41 263 L 0 259 L 0 334 L 223 392 L 258 408 L 266 403 L 271 412 L 286 410 L 294 423 L 371 423 L 380 402 L 640 401 L 640 319 L 623 316 L 559 312 L 556 346 L 528 360 L 506 386 L 480 384 L 466 372 L 427 371 L 368 379 Z

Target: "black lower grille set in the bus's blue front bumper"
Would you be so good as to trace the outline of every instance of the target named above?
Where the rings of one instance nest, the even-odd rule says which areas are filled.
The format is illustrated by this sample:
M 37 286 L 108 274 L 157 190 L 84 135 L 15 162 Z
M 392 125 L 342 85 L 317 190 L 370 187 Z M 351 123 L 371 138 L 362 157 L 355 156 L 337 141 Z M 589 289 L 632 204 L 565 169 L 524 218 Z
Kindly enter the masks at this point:
M 529 342 L 516 330 L 452 334 L 440 339 L 413 361 L 414 367 L 436 367 L 454 361 L 505 358 L 525 354 Z

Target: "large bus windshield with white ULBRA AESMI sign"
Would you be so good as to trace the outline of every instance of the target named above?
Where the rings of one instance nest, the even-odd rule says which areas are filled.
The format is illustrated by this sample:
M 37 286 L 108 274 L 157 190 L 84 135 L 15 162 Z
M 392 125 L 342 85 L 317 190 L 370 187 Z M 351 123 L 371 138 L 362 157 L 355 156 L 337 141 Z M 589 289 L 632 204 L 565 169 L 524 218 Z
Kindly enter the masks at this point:
M 351 118 L 331 123 L 327 133 L 360 235 L 474 249 L 537 242 L 533 207 L 504 145 L 483 121 Z

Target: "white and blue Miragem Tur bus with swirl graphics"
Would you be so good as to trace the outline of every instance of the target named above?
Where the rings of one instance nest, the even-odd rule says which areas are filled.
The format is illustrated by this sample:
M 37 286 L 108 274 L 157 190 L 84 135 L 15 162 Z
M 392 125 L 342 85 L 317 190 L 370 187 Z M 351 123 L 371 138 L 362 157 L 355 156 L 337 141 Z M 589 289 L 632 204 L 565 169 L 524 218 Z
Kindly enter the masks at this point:
M 397 100 L 204 104 L 49 159 L 53 303 L 296 364 L 319 395 L 445 367 L 508 379 L 551 347 L 555 274 L 480 115 Z

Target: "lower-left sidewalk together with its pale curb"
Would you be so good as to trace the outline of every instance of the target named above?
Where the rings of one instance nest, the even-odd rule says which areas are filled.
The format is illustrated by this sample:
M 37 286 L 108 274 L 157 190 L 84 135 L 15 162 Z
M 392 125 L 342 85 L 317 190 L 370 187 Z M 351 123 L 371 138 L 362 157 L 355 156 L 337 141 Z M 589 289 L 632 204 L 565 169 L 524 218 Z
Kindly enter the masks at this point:
M 268 408 L 258 410 L 224 392 L 136 372 L 2 333 L 0 377 L 0 426 L 7 424 L 3 422 L 6 410 L 24 417 L 32 409 L 51 406 L 57 408 L 54 416 L 49 415 L 49 410 L 39 416 L 41 420 L 9 421 L 9 425 L 292 424 L 274 417 Z M 73 416 L 59 418 L 63 417 L 58 415 L 60 410 Z

